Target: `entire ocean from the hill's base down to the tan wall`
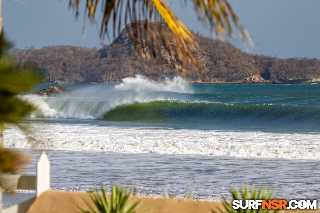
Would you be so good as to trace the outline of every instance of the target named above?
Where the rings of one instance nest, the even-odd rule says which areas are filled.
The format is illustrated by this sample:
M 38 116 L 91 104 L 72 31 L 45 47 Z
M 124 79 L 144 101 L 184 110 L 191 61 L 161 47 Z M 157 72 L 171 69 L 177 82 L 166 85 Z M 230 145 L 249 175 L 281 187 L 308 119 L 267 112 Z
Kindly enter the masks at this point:
M 22 121 L 28 137 L 16 127 L 4 131 L 6 147 L 33 158 L 25 174 L 47 151 L 52 189 L 116 183 L 183 198 L 194 188 L 196 199 L 220 200 L 229 187 L 254 183 L 286 199 L 319 198 L 320 84 L 190 85 L 137 75 L 64 86 L 74 91 L 21 96 L 38 108 Z

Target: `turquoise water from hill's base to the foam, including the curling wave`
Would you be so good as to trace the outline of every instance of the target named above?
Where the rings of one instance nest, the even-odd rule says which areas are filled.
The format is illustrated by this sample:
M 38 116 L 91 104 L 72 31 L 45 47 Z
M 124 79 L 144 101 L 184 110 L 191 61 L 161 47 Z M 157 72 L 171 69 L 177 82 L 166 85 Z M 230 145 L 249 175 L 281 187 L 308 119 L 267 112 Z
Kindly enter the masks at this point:
M 73 95 L 48 99 L 49 106 L 65 112 L 60 118 L 100 120 L 99 125 L 269 132 L 319 132 L 320 127 L 320 84 L 186 85 L 167 91 L 65 86 Z

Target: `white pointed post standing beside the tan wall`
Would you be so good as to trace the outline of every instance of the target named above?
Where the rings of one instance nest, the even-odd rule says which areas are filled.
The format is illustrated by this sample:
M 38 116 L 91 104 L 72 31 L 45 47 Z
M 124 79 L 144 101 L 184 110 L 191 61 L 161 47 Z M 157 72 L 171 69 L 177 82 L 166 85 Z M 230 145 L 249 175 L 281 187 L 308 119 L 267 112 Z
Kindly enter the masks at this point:
M 50 190 L 50 162 L 47 154 L 42 152 L 37 162 L 37 197 Z

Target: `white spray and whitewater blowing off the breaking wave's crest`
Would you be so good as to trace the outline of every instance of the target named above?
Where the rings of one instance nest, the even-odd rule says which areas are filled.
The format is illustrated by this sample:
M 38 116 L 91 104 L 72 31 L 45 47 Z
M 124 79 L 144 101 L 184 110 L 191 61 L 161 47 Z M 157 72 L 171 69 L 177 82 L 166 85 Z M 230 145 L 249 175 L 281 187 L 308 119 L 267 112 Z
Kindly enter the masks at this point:
M 108 85 L 100 85 L 53 98 L 37 95 L 24 95 L 22 98 L 37 107 L 38 112 L 32 114 L 32 117 L 95 120 L 102 119 L 104 114 L 116 106 L 135 102 L 179 100 L 179 95 L 174 93 L 192 92 L 182 77 L 158 83 L 151 82 L 142 75 L 136 75 L 123 79 L 123 83 L 111 88 Z

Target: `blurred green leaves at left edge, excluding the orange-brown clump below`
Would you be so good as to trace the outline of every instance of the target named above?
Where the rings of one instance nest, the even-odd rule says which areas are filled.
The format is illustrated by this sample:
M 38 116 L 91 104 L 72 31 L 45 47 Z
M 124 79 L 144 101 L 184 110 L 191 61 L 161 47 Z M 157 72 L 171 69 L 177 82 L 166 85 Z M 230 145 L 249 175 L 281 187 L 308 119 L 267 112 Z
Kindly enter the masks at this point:
M 8 50 L 12 47 L 0 34 L 0 148 L 3 148 L 3 130 L 5 123 L 17 125 L 20 119 L 34 110 L 34 107 L 17 95 L 32 91 L 41 78 L 36 75 L 35 66 L 25 64 L 15 66 Z

